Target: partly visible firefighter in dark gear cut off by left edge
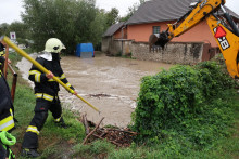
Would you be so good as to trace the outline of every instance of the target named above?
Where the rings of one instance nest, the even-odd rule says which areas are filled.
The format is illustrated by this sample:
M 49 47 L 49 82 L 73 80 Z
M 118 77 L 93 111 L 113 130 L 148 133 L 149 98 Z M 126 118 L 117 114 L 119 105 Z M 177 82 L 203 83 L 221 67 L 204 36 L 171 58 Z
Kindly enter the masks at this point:
M 4 65 L 4 45 L 0 42 L 0 66 Z M 11 132 L 15 128 L 13 118 L 13 103 L 10 94 L 9 84 L 7 83 L 0 69 L 0 157 L 11 157 L 10 145 L 2 142 L 3 132 Z M 13 158 L 13 156 L 12 156 Z

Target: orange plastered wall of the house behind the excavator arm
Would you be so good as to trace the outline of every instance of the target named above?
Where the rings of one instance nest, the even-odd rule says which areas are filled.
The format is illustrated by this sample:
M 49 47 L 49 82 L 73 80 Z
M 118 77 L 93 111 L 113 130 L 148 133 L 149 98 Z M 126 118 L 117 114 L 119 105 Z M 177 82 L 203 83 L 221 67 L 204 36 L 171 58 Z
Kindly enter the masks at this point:
M 173 22 L 163 23 L 150 23 L 139 25 L 128 25 L 127 27 L 127 39 L 135 40 L 136 42 L 149 42 L 149 36 L 152 35 L 153 26 L 161 26 L 161 30 L 166 30 L 167 25 Z M 174 42 L 205 42 L 211 43 L 212 47 L 217 47 L 216 40 L 214 39 L 206 21 L 202 21 L 197 26 L 191 28 L 189 31 L 183 34 L 179 37 L 175 37 L 172 41 Z

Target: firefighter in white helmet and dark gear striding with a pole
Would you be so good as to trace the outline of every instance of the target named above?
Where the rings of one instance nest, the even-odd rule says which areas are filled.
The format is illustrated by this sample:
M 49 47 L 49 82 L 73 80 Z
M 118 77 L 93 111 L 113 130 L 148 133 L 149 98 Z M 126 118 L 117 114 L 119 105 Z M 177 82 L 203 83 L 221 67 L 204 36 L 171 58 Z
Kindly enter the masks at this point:
M 62 107 L 59 98 L 59 83 L 52 79 L 52 77 L 55 76 L 63 83 L 74 90 L 61 68 L 60 52 L 62 49 L 65 49 L 65 47 L 59 39 L 50 38 L 46 42 L 43 54 L 36 58 L 39 64 L 50 70 L 50 74 L 46 75 L 35 66 L 33 66 L 29 70 L 28 79 L 35 83 L 34 90 L 36 96 L 36 107 L 35 116 L 24 135 L 22 156 L 40 156 L 37 151 L 38 135 L 47 120 L 48 110 L 52 112 L 54 122 L 58 125 L 66 128 L 62 117 Z M 75 93 L 75 95 L 77 93 Z

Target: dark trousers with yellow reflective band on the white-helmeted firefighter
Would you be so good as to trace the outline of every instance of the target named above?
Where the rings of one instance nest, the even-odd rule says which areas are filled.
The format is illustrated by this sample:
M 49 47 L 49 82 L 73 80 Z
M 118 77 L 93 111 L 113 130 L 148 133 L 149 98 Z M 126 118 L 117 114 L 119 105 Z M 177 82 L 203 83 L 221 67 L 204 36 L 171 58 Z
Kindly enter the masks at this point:
M 38 135 L 48 118 L 48 110 L 52 112 L 54 121 L 59 122 L 62 115 L 62 107 L 58 96 L 54 96 L 52 101 L 45 98 L 36 100 L 35 116 L 26 130 L 22 148 L 38 148 Z

